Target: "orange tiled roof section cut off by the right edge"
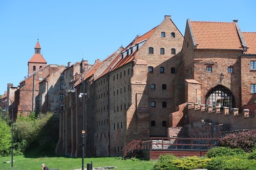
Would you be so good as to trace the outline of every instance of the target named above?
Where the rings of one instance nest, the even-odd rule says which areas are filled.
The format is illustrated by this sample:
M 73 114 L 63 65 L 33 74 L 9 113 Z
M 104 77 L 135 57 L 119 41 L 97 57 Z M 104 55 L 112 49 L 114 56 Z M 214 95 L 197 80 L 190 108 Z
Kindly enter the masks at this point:
M 248 47 L 246 54 L 256 54 L 256 32 L 243 32 L 242 34 Z

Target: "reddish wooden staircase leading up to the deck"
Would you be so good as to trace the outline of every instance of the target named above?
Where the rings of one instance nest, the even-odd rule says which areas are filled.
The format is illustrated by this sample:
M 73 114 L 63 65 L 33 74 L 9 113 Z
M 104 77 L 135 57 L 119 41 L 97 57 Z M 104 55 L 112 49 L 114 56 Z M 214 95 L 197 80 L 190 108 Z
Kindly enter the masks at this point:
M 141 142 L 142 142 L 142 139 L 133 140 L 129 142 L 126 145 L 126 147 L 122 149 L 123 159 L 130 159 L 130 158 L 136 157 L 140 152 Z

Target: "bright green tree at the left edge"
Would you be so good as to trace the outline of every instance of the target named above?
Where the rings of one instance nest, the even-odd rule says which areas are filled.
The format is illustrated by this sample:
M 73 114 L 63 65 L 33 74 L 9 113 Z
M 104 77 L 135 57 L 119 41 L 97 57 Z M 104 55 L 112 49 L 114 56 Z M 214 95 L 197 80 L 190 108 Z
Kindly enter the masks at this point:
M 0 155 L 8 152 L 11 147 L 11 128 L 0 117 Z

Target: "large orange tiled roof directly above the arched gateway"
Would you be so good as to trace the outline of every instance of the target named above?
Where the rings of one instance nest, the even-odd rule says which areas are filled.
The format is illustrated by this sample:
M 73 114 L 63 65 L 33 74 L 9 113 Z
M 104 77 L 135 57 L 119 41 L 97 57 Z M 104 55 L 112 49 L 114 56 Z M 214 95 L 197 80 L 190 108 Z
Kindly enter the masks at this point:
M 240 37 L 234 22 L 190 21 L 201 49 L 243 50 Z

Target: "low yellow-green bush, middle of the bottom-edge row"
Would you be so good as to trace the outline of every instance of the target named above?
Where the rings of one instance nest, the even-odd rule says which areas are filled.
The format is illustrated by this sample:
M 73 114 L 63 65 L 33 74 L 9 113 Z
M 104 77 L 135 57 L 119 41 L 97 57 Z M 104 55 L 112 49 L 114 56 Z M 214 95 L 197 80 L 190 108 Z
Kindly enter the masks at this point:
M 179 169 L 189 170 L 189 169 L 205 168 L 207 165 L 207 162 L 209 161 L 210 159 L 205 157 L 197 157 L 197 156 L 189 157 L 188 156 L 185 158 L 173 160 L 173 164 L 179 167 Z

